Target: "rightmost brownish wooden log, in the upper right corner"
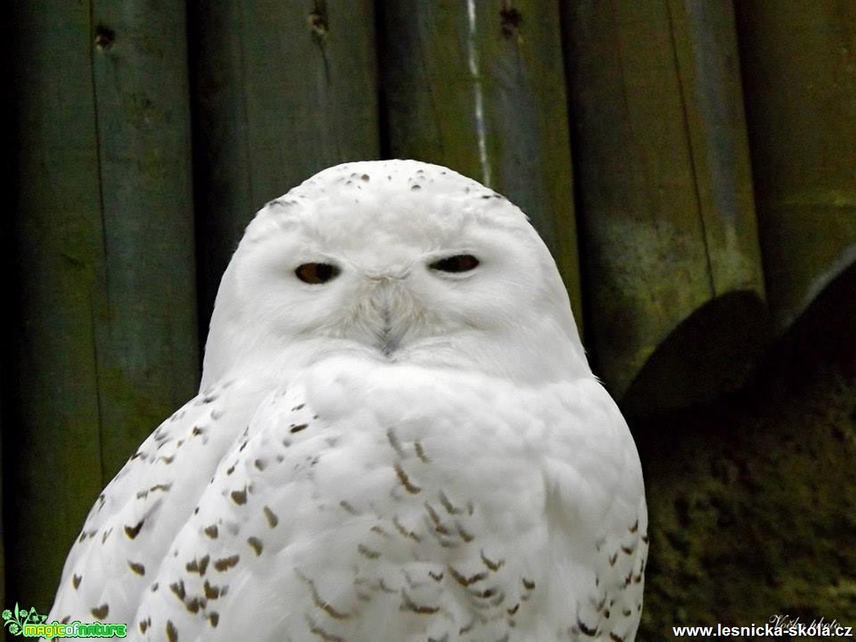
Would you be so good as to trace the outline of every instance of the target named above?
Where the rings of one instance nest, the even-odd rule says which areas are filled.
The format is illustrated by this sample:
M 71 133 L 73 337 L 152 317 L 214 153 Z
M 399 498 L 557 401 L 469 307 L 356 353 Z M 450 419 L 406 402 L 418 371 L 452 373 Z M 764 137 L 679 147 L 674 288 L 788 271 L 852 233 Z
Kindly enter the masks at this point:
M 779 330 L 856 261 L 856 3 L 735 3 Z

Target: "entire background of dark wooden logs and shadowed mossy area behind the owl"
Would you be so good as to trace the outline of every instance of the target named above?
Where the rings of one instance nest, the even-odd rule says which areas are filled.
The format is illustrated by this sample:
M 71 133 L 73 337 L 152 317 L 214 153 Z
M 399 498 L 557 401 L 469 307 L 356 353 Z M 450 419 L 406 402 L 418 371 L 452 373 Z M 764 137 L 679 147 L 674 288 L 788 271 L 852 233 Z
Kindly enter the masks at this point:
M 0 605 L 198 384 L 261 205 L 443 163 L 543 235 L 645 467 L 640 639 L 856 625 L 856 4 L 32 0 L 6 64 Z

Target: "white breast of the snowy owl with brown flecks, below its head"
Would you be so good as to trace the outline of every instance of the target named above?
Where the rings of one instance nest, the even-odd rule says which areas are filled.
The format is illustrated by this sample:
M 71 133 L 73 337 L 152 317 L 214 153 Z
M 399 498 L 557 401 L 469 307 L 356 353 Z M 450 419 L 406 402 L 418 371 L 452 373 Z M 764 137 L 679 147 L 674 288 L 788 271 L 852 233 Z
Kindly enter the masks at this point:
M 562 487 L 586 474 L 579 395 L 342 359 L 304 372 L 259 406 L 177 539 L 163 581 L 181 583 L 185 606 L 205 599 L 183 626 L 204 621 L 217 639 L 247 627 L 258 639 L 576 639 L 603 526 L 586 512 L 603 492 L 576 502 Z M 182 572 L 205 556 L 212 577 Z

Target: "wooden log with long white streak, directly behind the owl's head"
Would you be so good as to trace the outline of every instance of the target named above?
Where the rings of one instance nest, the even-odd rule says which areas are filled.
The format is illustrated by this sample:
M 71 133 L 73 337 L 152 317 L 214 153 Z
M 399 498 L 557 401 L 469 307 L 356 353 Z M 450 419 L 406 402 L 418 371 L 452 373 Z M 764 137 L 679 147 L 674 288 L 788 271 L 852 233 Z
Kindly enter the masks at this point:
M 556 0 L 383 3 L 389 155 L 508 196 L 556 258 L 582 321 Z

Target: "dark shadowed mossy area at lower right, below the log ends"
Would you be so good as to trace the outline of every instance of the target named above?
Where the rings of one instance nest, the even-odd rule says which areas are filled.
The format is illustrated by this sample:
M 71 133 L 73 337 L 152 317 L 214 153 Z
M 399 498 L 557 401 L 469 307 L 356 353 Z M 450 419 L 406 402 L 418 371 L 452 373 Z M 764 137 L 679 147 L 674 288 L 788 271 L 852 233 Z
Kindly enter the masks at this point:
M 710 403 L 631 418 L 651 554 L 639 640 L 856 623 L 856 266 Z

